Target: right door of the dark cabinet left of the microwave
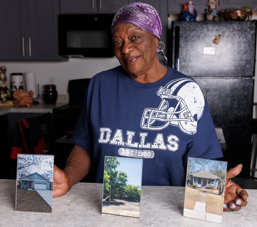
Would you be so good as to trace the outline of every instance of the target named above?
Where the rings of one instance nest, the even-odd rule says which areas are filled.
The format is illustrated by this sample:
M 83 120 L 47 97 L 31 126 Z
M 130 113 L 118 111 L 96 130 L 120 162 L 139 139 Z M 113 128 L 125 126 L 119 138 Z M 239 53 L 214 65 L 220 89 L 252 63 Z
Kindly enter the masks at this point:
M 27 0 L 28 59 L 59 60 L 57 0 Z

